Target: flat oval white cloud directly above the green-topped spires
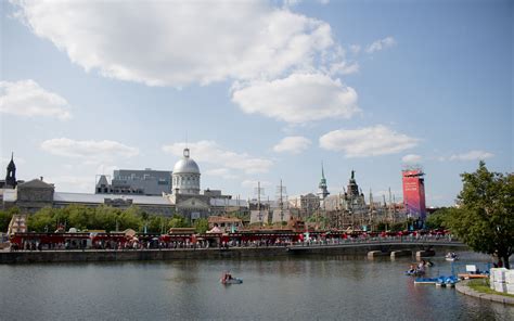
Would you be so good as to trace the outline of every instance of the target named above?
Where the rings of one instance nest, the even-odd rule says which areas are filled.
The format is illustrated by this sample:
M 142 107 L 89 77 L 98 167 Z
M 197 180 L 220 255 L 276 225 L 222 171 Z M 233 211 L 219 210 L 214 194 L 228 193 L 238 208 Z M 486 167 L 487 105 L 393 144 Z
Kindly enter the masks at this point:
M 346 157 L 367 157 L 400 153 L 417 145 L 419 139 L 396 132 L 383 125 L 361 129 L 339 129 L 320 138 L 320 146 L 344 152 Z

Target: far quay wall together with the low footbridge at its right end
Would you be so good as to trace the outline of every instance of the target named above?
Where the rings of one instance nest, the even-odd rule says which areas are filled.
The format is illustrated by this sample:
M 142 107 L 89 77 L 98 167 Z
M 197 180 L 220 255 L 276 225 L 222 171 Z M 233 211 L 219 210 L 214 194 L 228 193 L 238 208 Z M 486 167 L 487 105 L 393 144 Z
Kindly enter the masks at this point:
M 62 262 L 62 261 L 130 261 L 130 260 L 175 260 L 203 258 L 274 257 L 295 254 L 367 255 L 373 251 L 426 251 L 446 253 L 450 249 L 467 249 L 458 241 L 448 239 L 363 239 L 300 242 L 277 245 L 250 244 L 219 247 L 142 248 L 142 249 L 57 249 L 57 251 L 3 251 L 0 264 Z

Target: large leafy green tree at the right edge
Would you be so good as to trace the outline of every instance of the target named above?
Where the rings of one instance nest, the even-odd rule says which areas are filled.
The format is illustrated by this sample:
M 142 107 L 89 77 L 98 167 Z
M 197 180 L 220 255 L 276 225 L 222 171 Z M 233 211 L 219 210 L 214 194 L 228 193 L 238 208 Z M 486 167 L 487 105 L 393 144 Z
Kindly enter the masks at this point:
M 460 208 L 448 227 L 477 252 L 497 255 L 510 268 L 514 251 L 514 175 L 491 172 L 480 162 L 475 172 L 461 175 Z

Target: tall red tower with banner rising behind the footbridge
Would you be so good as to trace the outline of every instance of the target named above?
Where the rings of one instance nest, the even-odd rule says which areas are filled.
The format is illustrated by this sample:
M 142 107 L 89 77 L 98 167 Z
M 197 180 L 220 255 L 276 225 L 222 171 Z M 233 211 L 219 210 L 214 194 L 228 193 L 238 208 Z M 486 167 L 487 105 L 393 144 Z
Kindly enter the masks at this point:
M 425 220 L 425 175 L 421 168 L 402 170 L 403 204 L 407 215 L 412 218 Z

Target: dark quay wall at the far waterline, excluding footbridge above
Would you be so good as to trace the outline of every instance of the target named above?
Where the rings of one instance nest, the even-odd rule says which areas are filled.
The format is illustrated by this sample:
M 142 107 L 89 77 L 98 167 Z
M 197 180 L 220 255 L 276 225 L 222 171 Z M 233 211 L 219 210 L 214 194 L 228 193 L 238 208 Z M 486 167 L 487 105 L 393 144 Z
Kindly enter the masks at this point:
M 137 249 L 137 251 L 0 251 L 0 264 L 30 262 L 90 262 L 90 261 L 134 261 L 134 260 L 176 260 L 176 259 L 222 259 L 222 258 L 264 258 L 303 254 L 322 255 L 367 255 L 371 251 L 415 249 L 415 244 L 346 244 L 314 246 L 270 246 L 270 247 L 231 247 L 224 248 L 179 248 L 179 249 Z M 437 246 L 445 253 L 450 249 L 463 249 L 463 246 Z

